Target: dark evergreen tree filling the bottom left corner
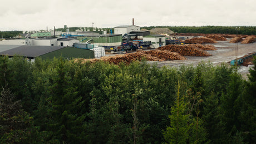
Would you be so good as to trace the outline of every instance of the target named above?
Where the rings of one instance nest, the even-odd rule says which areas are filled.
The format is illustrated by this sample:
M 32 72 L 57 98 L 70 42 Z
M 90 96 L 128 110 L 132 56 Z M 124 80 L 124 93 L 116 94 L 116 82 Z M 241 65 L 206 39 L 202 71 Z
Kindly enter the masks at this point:
M 38 132 L 33 118 L 22 110 L 21 101 L 4 89 L 0 97 L 0 143 L 43 143 L 46 133 Z

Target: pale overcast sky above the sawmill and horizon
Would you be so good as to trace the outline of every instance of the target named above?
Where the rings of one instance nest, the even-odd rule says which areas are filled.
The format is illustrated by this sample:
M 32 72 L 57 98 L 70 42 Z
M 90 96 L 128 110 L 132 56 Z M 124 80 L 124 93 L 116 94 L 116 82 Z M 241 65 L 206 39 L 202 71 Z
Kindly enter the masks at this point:
M 1 0 L 0 31 L 67 27 L 256 26 L 255 0 Z

